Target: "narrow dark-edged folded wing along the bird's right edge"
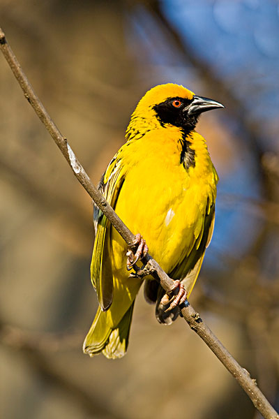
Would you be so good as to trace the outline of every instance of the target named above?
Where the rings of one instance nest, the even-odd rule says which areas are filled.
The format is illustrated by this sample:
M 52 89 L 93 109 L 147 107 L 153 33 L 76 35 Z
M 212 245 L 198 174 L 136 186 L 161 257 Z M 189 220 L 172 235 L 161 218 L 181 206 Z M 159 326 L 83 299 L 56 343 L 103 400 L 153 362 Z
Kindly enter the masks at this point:
M 202 261 L 204 259 L 204 253 L 206 247 L 211 242 L 213 235 L 215 220 L 215 205 L 214 203 L 207 203 L 206 212 L 202 223 L 202 228 L 199 236 L 195 240 L 193 248 L 181 262 L 174 267 L 170 273 L 170 277 L 173 279 L 180 279 L 190 295 L 197 280 L 199 270 L 202 267 Z

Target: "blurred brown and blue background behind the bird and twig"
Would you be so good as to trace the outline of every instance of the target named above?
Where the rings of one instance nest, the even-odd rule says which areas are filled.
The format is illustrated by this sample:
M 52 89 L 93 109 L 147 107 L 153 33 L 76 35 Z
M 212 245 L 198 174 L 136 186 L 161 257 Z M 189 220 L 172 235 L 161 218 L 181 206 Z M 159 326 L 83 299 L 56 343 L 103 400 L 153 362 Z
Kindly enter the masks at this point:
M 190 302 L 279 408 L 279 6 L 275 0 L 1 0 L 1 27 L 95 184 L 156 84 L 202 116 L 220 183 Z M 92 205 L 0 56 L 0 416 L 260 418 L 179 318 L 137 297 L 122 360 L 89 358 Z

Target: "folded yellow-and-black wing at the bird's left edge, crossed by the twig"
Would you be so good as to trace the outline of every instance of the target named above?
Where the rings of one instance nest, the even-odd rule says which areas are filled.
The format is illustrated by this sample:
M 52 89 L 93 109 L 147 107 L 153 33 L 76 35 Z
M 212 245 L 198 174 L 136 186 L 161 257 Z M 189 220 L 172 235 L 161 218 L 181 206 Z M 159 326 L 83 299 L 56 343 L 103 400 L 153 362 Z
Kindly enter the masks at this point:
M 100 179 L 98 189 L 108 203 L 114 208 L 119 191 L 123 184 L 125 171 L 117 153 L 103 177 Z M 93 223 L 95 229 L 95 242 L 91 260 L 91 281 L 96 289 L 98 301 L 103 311 L 112 304 L 113 282 L 112 263 L 110 259 L 110 222 L 96 205 L 93 210 Z

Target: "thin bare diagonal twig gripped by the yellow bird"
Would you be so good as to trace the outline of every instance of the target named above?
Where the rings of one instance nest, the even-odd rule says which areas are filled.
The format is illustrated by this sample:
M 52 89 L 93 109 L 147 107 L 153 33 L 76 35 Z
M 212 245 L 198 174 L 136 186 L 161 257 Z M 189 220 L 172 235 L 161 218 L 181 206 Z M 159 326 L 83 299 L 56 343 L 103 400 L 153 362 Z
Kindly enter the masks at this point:
M 112 223 L 114 228 L 116 228 L 128 246 L 133 247 L 133 244 L 135 243 L 135 236 L 130 232 L 125 224 L 123 224 L 110 204 L 107 203 L 102 194 L 91 183 L 89 176 L 86 174 L 84 168 L 77 160 L 66 138 L 63 137 L 63 135 L 60 133 L 59 129 L 47 114 L 43 104 L 40 103 L 38 97 L 34 93 L 26 75 L 24 75 L 20 64 L 13 54 L 13 51 L 10 49 L 10 46 L 6 41 L 5 35 L 3 34 L 1 28 L 0 48 L 4 57 L 8 61 L 8 64 L 10 65 L 15 78 L 17 78 L 17 81 L 20 83 L 20 87 L 22 87 L 24 96 L 27 98 L 40 120 L 50 132 L 50 135 L 52 135 L 56 145 L 58 145 L 63 156 L 66 158 L 70 167 L 72 168 L 75 177 L 77 177 L 82 186 L 84 186 L 84 189 L 89 193 L 91 198 L 94 200 L 96 205 L 98 205 L 105 216 L 107 216 L 107 219 Z M 151 270 L 154 277 L 160 279 L 161 286 L 163 286 L 167 293 L 170 293 L 174 288 L 174 281 L 167 276 L 167 274 L 161 269 L 158 263 L 156 263 L 156 260 L 154 260 L 150 255 L 146 257 L 146 262 L 148 263 L 149 269 Z M 186 302 L 186 304 L 184 304 L 181 308 L 181 314 L 190 325 L 190 328 L 197 332 L 199 337 L 204 340 L 207 346 L 211 348 L 211 351 L 216 354 L 218 359 L 223 363 L 223 365 L 225 365 L 229 372 L 231 372 L 234 378 L 236 378 L 236 381 L 238 381 L 243 390 L 246 391 L 255 407 L 260 411 L 260 413 L 262 413 L 262 416 L 264 416 L 266 419 L 279 419 L 278 413 L 276 413 L 271 404 L 269 404 L 266 397 L 264 397 L 262 392 L 259 390 L 255 380 L 250 378 L 250 374 L 246 371 L 246 369 L 243 369 L 238 364 L 238 362 L 234 360 L 232 355 L 227 351 L 223 344 L 221 344 L 213 332 L 211 332 L 208 326 L 206 326 L 206 324 L 202 321 L 202 318 L 199 317 L 199 314 L 197 314 L 197 312 L 193 309 L 193 307 L 190 306 L 188 302 Z

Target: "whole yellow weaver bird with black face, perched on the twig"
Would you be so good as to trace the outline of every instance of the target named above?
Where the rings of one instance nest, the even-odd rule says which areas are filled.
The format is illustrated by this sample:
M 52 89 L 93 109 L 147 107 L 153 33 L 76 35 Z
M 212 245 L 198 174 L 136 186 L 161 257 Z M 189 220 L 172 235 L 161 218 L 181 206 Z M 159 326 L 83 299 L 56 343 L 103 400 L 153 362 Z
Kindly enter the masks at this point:
M 224 108 L 183 86 L 163 84 L 147 91 L 133 112 L 126 143 L 98 185 L 116 214 L 149 253 L 190 295 L 213 233 L 218 175 L 206 142 L 195 131 L 202 112 Z M 130 277 L 137 258 L 98 207 L 91 281 L 99 307 L 84 341 L 84 353 L 121 358 L 127 350 L 135 297 L 143 279 Z M 137 252 L 139 253 L 139 252 Z M 128 262 L 127 262 L 128 254 Z M 137 254 L 138 256 L 138 254 Z M 156 303 L 156 318 L 170 324 L 186 298 L 171 305 L 165 291 L 146 277 L 144 295 Z

